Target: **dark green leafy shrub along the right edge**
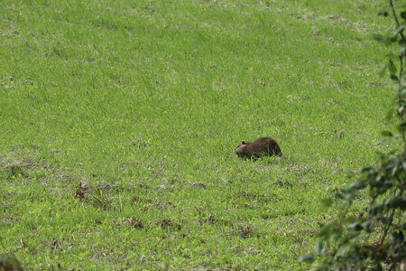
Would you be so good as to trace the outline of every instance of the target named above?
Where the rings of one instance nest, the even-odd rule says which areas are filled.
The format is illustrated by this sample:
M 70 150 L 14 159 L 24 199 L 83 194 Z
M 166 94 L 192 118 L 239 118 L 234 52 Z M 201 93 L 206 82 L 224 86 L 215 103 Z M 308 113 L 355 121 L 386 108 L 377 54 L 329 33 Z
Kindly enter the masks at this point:
M 386 142 L 401 147 L 399 152 L 381 154 L 376 166 L 364 167 L 355 182 L 325 202 L 332 205 L 340 200 L 339 216 L 318 230 L 315 253 L 300 257 L 300 261 L 312 262 L 317 270 L 406 270 L 406 81 L 403 79 L 406 5 L 395 8 L 390 0 L 386 10 L 379 14 L 395 23 L 392 33 L 376 34 L 374 40 L 382 42 L 390 51 L 382 74 L 389 70 L 400 120 L 397 133 L 383 131 L 383 135 L 388 139 Z M 393 48 L 397 48 L 395 53 L 391 52 Z M 388 115 L 392 116 L 393 110 Z

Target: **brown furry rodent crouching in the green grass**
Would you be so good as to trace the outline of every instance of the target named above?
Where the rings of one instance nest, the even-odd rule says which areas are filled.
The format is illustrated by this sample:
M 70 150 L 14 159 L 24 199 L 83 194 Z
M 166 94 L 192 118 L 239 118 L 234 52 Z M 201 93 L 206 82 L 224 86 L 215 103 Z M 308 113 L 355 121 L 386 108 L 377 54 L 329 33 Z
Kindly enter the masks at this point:
M 271 137 L 261 137 L 254 142 L 243 141 L 234 152 L 240 157 L 258 158 L 263 155 L 281 155 L 281 148 Z

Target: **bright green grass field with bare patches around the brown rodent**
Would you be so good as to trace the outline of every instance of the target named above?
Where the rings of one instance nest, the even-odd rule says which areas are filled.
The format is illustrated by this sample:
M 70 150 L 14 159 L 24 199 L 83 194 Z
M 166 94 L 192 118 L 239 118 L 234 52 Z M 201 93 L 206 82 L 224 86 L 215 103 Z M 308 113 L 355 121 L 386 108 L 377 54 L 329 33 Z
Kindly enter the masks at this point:
M 320 201 L 384 150 L 381 6 L 2 0 L 0 252 L 29 270 L 306 268 L 337 210 Z M 280 160 L 233 153 L 260 136 Z

